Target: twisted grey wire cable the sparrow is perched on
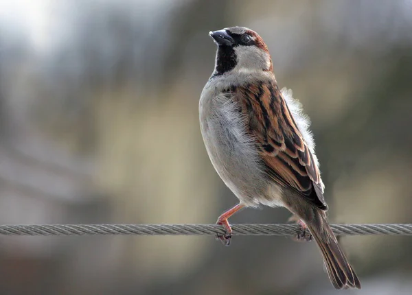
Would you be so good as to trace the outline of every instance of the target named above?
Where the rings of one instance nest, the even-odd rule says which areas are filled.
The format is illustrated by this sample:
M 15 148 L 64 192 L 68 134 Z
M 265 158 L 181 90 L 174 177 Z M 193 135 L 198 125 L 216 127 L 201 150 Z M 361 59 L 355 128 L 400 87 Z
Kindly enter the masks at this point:
M 412 224 L 332 224 L 336 235 L 412 235 Z M 297 224 L 233 224 L 233 235 L 296 235 Z M 17 224 L 0 235 L 216 235 L 216 224 Z

